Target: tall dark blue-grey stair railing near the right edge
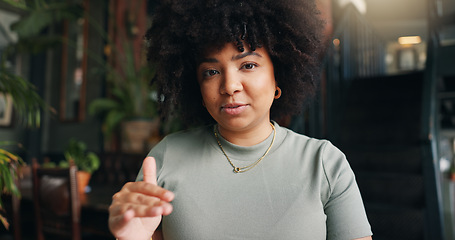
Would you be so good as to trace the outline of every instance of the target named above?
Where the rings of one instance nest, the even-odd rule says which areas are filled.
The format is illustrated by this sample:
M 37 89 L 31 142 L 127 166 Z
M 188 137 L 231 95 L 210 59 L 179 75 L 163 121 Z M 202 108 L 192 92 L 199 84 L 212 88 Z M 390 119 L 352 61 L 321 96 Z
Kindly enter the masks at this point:
M 448 22 L 442 15 L 442 1 L 428 0 L 428 43 L 427 60 L 422 98 L 421 149 L 423 174 L 425 178 L 426 200 L 426 236 L 425 239 L 445 239 L 443 221 L 443 203 L 441 190 L 441 172 L 439 168 L 439 98 L 438 82 L 441 78 L 442 30 L 441 23 Z M 455 17 L 455 15 L 454 15 Z M 454 18 L 455 19 L 455 18 Z

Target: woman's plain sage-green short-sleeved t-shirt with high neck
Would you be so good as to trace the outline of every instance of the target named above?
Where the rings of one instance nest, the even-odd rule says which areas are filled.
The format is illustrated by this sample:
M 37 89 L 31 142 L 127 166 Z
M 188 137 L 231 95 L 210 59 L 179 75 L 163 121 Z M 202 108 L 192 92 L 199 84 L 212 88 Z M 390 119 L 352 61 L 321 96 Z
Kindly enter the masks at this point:
M 278 126 L 270 152 L 234 173 L 213 126 L 171 134 L 149 153 L 158 185 L 175 193 L 163 217 L 164 239 L 355 239 L 372 235 L 344 154 L 330 142 Z M 235 166 L 258 160 L 270 146 L 242 147 L 221 136 Z M 142 171 L 138 180 L 142 179 Z

